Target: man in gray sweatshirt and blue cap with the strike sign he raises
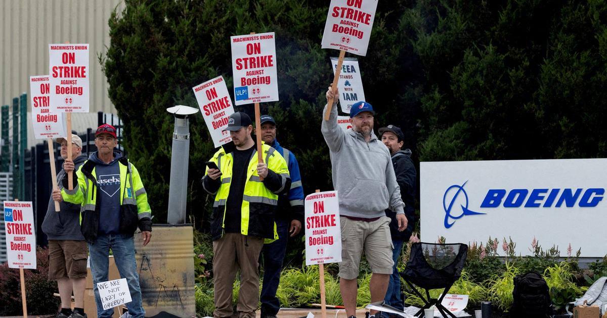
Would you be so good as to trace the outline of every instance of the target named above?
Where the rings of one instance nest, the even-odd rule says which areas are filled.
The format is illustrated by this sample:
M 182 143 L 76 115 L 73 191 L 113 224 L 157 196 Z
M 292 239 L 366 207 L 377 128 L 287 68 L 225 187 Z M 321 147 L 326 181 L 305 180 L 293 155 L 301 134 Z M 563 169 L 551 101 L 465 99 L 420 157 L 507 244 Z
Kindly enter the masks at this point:
M 339 288 L 348 317 L 356 314 L 356 277 L 362 250 L 373 271 L 371 302 L 384 299 L 394 265 L 390 218 L 384 210 L 396 212 L 399 231 L 407 228 L 390 153 L 373 133 L 375 111 L 371 104 L 351 106 L 352 128 L 347 131 L 337 124 L 337 82 L 345 52 L 367 54 L 377 4 L 378 0 L 331 0 L 322 36 L 322 48 L 340 50 L 333 84 L 326 94 L 321 130 L 330 150 L 333 186 L 339 193 L 343 239 Z M 371 315 L 376 313 L 371 310 Z

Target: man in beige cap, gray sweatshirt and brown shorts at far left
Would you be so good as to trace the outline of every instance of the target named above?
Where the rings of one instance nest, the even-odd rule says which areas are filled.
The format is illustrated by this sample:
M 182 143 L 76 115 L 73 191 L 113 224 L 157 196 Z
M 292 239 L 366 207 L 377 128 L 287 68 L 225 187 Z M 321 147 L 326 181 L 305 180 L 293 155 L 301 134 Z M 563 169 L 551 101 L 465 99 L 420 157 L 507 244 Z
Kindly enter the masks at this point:
M 57 138 L 61 144 L 61 157 L 67 158 L 67 141 Z M 72 134 L 72 158 L 76 169 L 86 161 L 82 154 L 82 139 Z M 61 169 L 57 180 L 63 179 L 66 171 Z M 62 187 L 59 184 L 59 187 Z M 80 204 L 61 200 L 60 211 L 55 211 L 53 198 L 42 221 L 42 231 L 49 237 L 49 280 L 56 280 L 61 297 L 61 311 L 56 317 L 86 317 L 84 314 L 84 287 L 86 286 L 87 250 L 84 236 L 80 232 Z M 75 308 L 72 311 L 72 291 Z M 70 316 L 73 315 L 73 316 Z

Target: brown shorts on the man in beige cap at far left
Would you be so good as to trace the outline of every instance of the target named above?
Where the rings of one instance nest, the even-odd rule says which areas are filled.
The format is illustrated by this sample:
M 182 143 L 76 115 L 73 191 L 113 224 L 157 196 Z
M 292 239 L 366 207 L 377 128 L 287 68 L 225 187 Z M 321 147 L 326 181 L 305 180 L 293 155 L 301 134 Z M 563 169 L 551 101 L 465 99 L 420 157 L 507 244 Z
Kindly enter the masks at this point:
M 49 240 L 49 280 L 86 277 L 88 255 L 84 240 Z

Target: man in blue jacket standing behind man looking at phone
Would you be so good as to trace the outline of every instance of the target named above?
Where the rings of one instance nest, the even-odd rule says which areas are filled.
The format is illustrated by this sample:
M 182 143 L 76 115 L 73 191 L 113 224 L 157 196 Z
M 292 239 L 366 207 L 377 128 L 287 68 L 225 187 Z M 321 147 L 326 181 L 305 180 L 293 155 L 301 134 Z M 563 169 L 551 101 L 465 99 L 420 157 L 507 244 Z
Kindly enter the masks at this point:
M 278 209 L 276 213 L 276 230 L 278 239 L 272 243 L 263 245 L 263 287 L 260 295 L 261 317 L 276 318 L 280 310 L 280 300 L 276 297 L 280 281 L 280 270 L 282 261 L 287 252 L 289 237 L 296 236 L 304 222 L 304 187 L 299 174 L 299 164 L 293 152 L 276 140 L 276 121 L 270 115 L 262 115 L 259 118 L 261 125 L 262 140 L 270 147 L 276 149 L 287 161 L 289 175 L 291 176 L 291 188 L 287 194 L 278 197 Z

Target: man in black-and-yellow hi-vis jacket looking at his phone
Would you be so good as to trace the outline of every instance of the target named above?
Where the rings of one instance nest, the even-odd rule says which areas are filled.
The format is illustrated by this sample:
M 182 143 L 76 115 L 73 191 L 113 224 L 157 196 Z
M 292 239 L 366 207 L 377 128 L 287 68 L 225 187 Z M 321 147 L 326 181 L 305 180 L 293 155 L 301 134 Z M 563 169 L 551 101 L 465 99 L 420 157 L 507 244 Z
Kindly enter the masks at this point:
M 215 311 L 213 317 L 232 316 L 232 286 L 240 270 L 240 318 L 255 318 L 259 300 L 259 253 L 265 240 L 278 239 L 274 216 L 278 197 L 291 188 L 287 162 L 274 148 L 262 144 L 257 161 L 253 125 L 245 113 L 229 116 L 228 127 L 236 148 L 220 148 L 202 178 L 203 189 L 215 196 L 211 214 Z

